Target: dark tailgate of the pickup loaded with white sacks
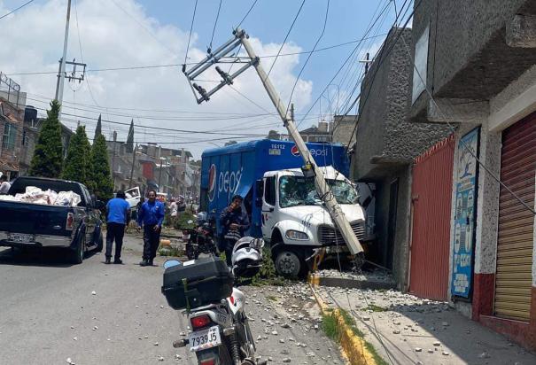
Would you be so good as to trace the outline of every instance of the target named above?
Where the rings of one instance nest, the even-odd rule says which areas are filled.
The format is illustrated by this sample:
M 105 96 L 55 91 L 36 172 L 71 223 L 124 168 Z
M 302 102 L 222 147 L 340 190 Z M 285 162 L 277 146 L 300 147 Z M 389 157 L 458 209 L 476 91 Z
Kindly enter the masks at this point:
M 0 201 L 0 231 L 69 237 L 66 230 L 69 206 L 42 206 L 12 201 Z

